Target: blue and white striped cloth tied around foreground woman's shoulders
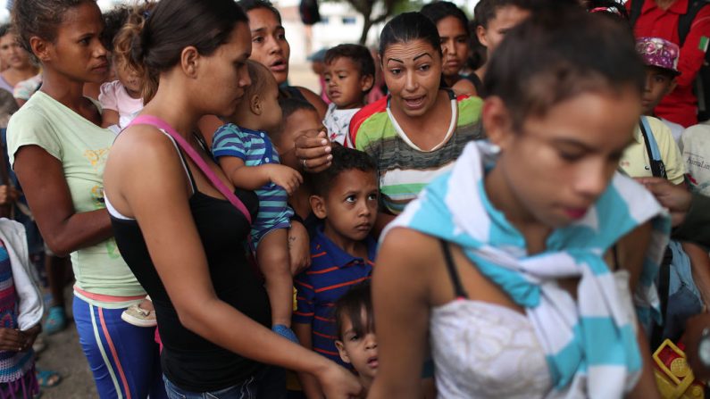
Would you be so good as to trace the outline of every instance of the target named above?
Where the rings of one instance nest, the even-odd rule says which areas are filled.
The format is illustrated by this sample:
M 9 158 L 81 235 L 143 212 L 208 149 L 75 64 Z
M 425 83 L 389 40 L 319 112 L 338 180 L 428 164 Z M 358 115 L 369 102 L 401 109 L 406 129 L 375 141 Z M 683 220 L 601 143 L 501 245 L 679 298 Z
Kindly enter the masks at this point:
M 484 170 L 496 158 L 494 145 L 467 145 L 454 169 L 426 187 L 388 230 L 406 227 L 460 245 L 483 275 L 525 308 L 547 357 L 552 396 L 622 397 L 636 385 L 642 359 L 631 295 L 628 288 L 618 288 L 603 256 L 621 237 L 652 220 L 634 302 L 639 320 L 658 320 L 654 279 L 669 218 L 646 189 L 617 173 L 581 220 L 555 229 L 546 251 L 529 255 L 522 234 L 486 196 Z M 557 285 L 560 278 L 580 278 L 576 302 Z

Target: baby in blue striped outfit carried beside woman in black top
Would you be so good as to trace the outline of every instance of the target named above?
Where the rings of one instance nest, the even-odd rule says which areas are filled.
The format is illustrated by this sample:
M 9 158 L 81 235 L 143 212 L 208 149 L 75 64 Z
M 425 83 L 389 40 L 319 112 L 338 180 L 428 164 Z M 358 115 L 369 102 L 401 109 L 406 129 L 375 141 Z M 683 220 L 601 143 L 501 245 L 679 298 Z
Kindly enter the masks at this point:
M 293 277 L 288 254 L 288 229 L 294 212 L 288 195 L 303 181 L 301 175 L 279 162 L 270 136 L 280 132 L 279 87 L 262 64 L 247 61 L 252 84 L 230 123 L 214 133 L 213 156 L 235 187 L 254 190 L 259 212 L 252 225 L 250 249 L 255 252 L 271 303 L 272 329 L 294 342 L 290 329 Z

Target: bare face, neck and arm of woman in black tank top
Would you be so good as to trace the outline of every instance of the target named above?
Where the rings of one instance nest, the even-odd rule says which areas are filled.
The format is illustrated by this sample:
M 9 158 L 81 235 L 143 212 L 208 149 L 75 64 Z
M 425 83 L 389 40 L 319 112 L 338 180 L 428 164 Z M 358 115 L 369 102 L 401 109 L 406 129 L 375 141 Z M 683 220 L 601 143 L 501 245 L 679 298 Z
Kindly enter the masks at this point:
M 180 132 L 230 189 L 234 189 L 230 180 L 191 132 L 202 115 L 226 116 L 235 111 L 250 83 L 246 71 L 250 50 L 245 23 L 238 23 L 230 40 L 210 56 L 199 54 L 193 46 L 185 47 L 180 62 L 161 73 L 155 98 L 143 111 Z M 200 192 L 223 198 L 189 160 L 188 167 Z M 121 179 L 126 175 L 135 179 Z M 109 156 L 104 181 L 116 209 L 138 220 L 155 269 L 186 328 L 257 362 L 313 374 L 329 397 L 347 398 L 361 391 L 347 370 L 277 336 L 217 297 L 189 209 L 192 193 L 188 178 L 175 147 L 159 130 L 140 125 L 121 133 Z M 156 202 L 156 196 L 164 200 Z M 165 245 L 170 242 L 180 245 Z M 191 295 L 184 295 L 186 290 Z

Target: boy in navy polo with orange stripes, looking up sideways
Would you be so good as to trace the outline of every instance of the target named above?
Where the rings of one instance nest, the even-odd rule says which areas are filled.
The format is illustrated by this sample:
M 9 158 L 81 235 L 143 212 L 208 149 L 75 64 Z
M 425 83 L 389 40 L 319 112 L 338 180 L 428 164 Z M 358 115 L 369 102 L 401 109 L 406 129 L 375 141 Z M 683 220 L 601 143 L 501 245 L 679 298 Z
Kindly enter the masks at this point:
M 379 189 L 376 165 L 369 155 L 339 145 L 333 146 L 332 154 L 330 168 L 311 180 L 311 208 L 322 225 L 311 240 L 311 267 L 294 279 L 297 311 L 292 326 L 301 345 L 349 367 L 335 345 L 333 303 L 372 275 L 377 245 L 370 232 Z M 322 396 L 313 377 L 299 378 L 308 397 Z

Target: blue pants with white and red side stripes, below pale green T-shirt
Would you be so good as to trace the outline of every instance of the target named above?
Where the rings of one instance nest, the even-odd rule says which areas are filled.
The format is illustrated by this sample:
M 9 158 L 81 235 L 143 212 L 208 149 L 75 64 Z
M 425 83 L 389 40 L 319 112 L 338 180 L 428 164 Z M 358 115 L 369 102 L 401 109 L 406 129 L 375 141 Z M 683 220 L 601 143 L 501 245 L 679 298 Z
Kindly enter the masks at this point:
M 123 309 L 105 309 L 74 296 L 79 344 L 101 399 L 167 398 L 155 328 L 121 320 Z

